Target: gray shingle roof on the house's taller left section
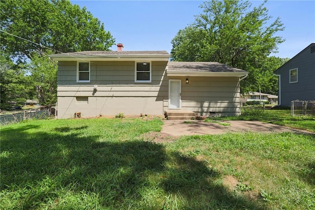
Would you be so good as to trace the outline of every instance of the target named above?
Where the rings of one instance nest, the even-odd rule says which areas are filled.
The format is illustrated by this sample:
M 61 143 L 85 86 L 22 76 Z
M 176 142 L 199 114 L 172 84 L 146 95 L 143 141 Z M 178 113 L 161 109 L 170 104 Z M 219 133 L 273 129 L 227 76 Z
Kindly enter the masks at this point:
M 164 51 L 82 51 L 55 54 L 58 56 L 110 56 L 110 55 L 168 55 Z

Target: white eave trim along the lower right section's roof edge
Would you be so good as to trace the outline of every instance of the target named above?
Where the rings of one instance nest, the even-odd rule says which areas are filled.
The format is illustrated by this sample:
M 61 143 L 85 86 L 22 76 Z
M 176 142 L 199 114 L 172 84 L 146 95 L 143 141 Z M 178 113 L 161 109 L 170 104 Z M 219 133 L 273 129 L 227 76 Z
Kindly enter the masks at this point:
M 168 76 L 221 76 L 221 77 L 241 77 L 248 74 L 244 72 L 200 72 L 200 71 L 167 71 Z

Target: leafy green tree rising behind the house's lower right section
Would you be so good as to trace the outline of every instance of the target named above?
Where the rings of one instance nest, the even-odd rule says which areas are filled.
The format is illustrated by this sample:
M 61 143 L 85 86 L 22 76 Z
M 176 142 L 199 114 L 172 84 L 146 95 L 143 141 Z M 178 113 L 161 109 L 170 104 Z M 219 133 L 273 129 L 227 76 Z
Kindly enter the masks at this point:
M 275 36 L 284 30 L 280 19 L 268 25 L 272 17 L 265 2 L 253 8 L 249 1 L 204 2 L 200 5 L 203 13 L 172 39 L 171 60 L 220 62 L 247 70 L 249 82 L 241 83 L 242 91 L 258 90 L 264 83 L 258 78 L 268 55 L 284 41 Z

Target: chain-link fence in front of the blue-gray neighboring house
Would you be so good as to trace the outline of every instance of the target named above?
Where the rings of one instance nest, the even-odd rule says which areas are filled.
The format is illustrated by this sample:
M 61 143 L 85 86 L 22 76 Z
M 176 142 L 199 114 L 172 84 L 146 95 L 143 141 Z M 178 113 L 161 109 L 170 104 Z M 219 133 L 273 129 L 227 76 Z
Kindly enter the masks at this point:
M 291 116 L 315 115 L 315 101 L 292 101 Z

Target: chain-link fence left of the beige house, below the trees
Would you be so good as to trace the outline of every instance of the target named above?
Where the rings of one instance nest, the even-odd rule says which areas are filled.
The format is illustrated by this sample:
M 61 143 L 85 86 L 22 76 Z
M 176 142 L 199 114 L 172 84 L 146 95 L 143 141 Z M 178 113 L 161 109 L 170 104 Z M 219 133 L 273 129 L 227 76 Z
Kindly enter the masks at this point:
M 17 123 L 22 120 L 27 119 L 45 119 L 46 117 L 50 116 L 51 110 L 26 110 L 26 111 L 19 111 L 10 114 L 2 114 L 0 115 L 0 124 L 7 125 L 10 123 Z

